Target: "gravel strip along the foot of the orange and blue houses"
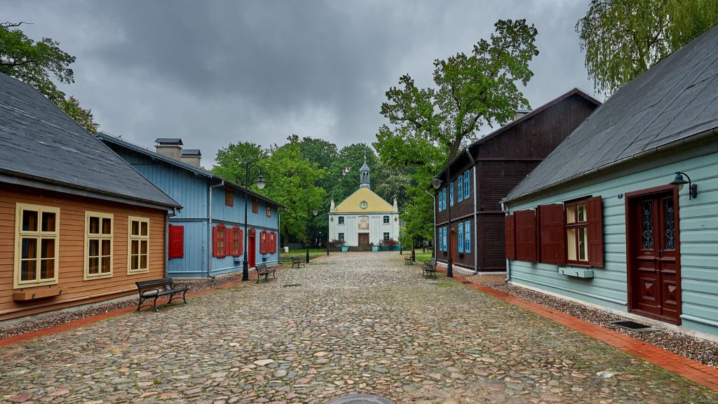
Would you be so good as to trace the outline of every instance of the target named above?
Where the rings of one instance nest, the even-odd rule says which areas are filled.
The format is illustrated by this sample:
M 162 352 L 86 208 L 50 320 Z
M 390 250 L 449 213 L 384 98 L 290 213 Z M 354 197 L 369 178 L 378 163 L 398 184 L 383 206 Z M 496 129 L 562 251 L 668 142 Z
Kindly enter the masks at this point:
M 252 272 L 253 270 L 249 271 L 250 275 L 252 274 Z M 242 271 L 237 271 L 227 275 L 215 277 L 215 279 L 213 280 L 178 280 L 177 282 L 187 283 L 187 286 L 190 288 L 190 291 L 188 293 L 191 293 L 198 292 L 200 290 L 217 288 L 218 286 L 224 285 L 225 283 L 230 283 L 235 280 L 241 279 Z M 88 307 L 78 311 L 52 314 L 45 318 L 37 318 L 35 320 L 23 321 L 22 323 L 17 323 L 12 326 L 0 328 L 0 339 L 6 339 L 10 338 L 11 336 L 27 334 L 32 331 L 47 329 L 53 326 L 59 326 L 60 324 L 70 323 L 70 321 L 79 320 L 80 318 L 97 316 L 98 314 L 109 313 L 111 311 L 120 310 L 121 308 L 136 306 L 137 299 L 124 300 L 121 302 L 107 303 L 99 306 Z

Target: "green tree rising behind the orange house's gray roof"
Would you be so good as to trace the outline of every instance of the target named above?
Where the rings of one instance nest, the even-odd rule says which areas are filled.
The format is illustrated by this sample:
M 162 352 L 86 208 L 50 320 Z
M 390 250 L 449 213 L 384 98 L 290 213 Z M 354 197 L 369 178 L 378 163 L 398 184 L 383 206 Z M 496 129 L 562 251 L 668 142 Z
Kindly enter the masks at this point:
M 0 24 L 0 72 L 33 86 L 90 133 L 97 132 L 100 125 L 93 121 L 92 111 L 80 107 L 72 96 L 66 100 L 65 93 L 50 79 L 52 75 L 60 83 L 75 83 L 73 69 L 69 67 L 75 63 L 75 57 L 62 52 L 60 44 L 50 38 L 31 40 L 17 28 L 21 24 L 25 23 Z

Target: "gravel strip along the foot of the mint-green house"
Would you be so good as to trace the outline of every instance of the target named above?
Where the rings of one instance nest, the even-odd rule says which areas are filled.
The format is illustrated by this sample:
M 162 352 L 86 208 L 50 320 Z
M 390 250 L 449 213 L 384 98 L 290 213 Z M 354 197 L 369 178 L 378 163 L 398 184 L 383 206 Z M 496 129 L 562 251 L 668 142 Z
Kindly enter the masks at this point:
M 635 339 L 640 339 L 640 341 L 645 341 L 649 344 L 659 346 L 666 349 L 666 351 L 681 355 L 681 357 L 693 359 L 696 362 L 700 362 L 711 367 L 718 367 L 718 344 L 715 342 L 668 329 L 642 333 L 633 332 L 609 323 L 609 321 L 635 321 L 633 318 L 625 318 L 615 314 L 606 313 L 605 311 L 590 308 L 569 300 L 555 298 L 554 296 L 546 295 L 545 293 L 521 288 L 516 285 L 509 285 L 508 283 L 503 282 L 503 280 L 498 281 L 490 278 L 495 276 L 497 275 L 476 275 L 467 277 L 467 280 L 471 280 L 473 283 L 477 283 L 479 285 L 488 286 L 489 288 L 495 290 L 500 290 L 501 292 L 508 293 L 509 295 L 526 299 L 532 303 L 537 303 L 542 306 L 561 311 L 561 313 L 566 313 L 569 316 L 574 316 L 582 319 L 583 321 L 594 323 L 598 326 L 604 327 L 605 329 L 610 329 L 611 331 L 616 331 L 617 333 L 628 335 Z M 498 276 L 505 278 L 505 275 Z M 653 327 L 659 328 L 656 326 Z

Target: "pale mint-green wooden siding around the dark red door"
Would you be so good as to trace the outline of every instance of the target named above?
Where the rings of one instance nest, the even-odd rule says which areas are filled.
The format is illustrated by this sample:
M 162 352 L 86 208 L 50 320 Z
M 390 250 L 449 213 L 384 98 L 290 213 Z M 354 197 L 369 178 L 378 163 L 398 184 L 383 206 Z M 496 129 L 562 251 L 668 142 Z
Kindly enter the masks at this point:
M 516 283 L 549 290 L 609 308 L 628 311 L 625 198 L 628 192 L 666 185 L 676 171 L 690 175 L 698 198 L 688 187 L 679 193 L 682 326 L 718 335 L 718 143 L 701 142 L 653 155 L 651 161 L 623 166 L 551 194 L 511 202 L 510 210 L 536 208 L 583 196 L 602 196 L 604 267 L 594 277 L 560 275 L 559 265 L 511 262 Z

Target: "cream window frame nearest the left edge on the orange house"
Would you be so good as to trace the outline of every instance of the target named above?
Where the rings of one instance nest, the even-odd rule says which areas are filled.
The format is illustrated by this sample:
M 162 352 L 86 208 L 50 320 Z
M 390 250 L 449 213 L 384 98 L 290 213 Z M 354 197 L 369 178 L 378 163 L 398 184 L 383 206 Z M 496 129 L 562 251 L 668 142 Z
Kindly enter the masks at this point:
M 37 211 L 37 231 L 22 229 L 22 212 Z M 55 231 L 42 231 L 42 214 L 55 214 Z M 34 280 L 20 280 L 22 275 L 22 239 L 37 239 L 36 276 Z M 55 239 L 55 277 L 39 279 L 42 261 L 42 239 Z M 57 285 L 60 272 L 60 208 L 52 206 L 31 205 L 29 203 L 15 204 L 15 260 L 13 289 L 34 288 L 35 286 Z

